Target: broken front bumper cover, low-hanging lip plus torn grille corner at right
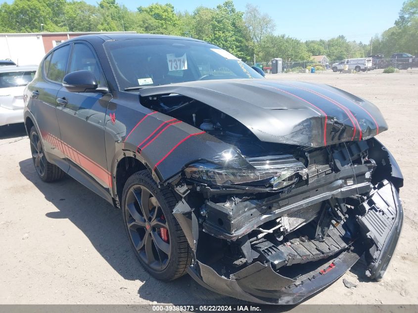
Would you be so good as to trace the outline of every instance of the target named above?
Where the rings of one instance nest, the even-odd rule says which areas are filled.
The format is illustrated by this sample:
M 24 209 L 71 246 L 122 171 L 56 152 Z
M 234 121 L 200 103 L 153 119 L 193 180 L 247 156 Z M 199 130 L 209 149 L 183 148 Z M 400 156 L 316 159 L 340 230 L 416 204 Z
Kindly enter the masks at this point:
M 304 274 L 296 275 L 294 279 L 279 274 L 280 270 L 273 269 L 271 263 L 260 262 L 238 270 L 229 278 L 199 260 L 188 272 L 199 284 L 212 291 L 244 301 L 279 305 L 297 304 L 321 291 L 350 269 L 363 253 L 369 264 L 365 268 L 366 274 L 379 280 L 399 238 L 403 221 L 402 205 L 395 186 L 383 180 L 372 188 L 368 201 L 362 206 L 366 213 L 357 218 L 361 236 L 344 251 L 326 260 L 290 266 L 305 268 Z M 194 223 L 190 223 L 189 227 Z M 188 233 L 188 237 L 191 236 Z

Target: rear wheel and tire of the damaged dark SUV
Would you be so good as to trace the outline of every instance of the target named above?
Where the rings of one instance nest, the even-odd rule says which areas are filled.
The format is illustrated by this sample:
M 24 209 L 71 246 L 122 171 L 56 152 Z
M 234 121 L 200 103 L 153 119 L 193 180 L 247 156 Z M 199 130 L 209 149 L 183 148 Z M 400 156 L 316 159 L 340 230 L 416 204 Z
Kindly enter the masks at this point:
M 29 132 L 29 139 L 31 142 L 33 164 L 39 178 L 45 182 L 62 179 L 65 173 L 59 167 L 46 160 L 44 146 L 35 126 L 32 126 Z

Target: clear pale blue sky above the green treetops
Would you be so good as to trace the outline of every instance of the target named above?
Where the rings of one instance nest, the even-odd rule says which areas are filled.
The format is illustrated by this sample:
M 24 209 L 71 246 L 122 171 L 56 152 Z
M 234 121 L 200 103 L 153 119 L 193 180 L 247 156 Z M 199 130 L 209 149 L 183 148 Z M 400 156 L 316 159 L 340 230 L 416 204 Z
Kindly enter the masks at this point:
M 12 2 L 12 0 L 6 0 Z M 329 39 L 344 35 L 348 40 L 369 42 L 375 34 L 393 26 L 404 0 L 235 0 L 238 10 L 244 11 L 245 4 L 258 5 L 276 22 L 276 34 L 286 34 L 303 41 Z M 86 0 L 97 4 L 99 0 Z M 139 5 L 167 3 L 177 11 L 192 12 L 196 6 L 216 7 L 223 0 L 117 0 L 129 9 Z

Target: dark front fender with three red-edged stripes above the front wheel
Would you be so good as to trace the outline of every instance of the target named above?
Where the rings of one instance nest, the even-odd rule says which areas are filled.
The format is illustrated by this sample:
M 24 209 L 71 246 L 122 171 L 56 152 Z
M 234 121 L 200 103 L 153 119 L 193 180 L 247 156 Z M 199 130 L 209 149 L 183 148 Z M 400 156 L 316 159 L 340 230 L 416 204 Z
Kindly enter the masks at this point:
M 151 111 L 138 120 L 118 143 L 111 173 L 116 173 L 118 160 L 132 156 L 151 171 L 157 183 L 165 183 L 187 164 L 213 160 L 232 149 L 230 144 L 160 112 Z

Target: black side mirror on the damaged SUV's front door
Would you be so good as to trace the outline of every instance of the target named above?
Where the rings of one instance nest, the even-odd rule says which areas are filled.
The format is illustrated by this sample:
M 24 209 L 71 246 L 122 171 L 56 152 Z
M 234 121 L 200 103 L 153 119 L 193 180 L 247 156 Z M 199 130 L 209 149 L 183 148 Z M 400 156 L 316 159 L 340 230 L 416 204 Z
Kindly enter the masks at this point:
M 68 73 L 62 80 L 62 86 L 72 92 L 100 92 L 97 89 L 97 80 L 90 71 L 75 71 Z

